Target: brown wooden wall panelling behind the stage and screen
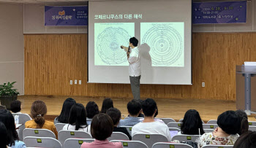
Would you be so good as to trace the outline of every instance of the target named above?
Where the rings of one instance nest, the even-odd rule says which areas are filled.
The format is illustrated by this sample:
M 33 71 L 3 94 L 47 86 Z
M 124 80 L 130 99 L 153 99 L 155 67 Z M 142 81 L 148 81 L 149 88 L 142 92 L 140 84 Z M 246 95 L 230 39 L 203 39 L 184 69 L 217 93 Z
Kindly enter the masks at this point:
M 236 65 L 256 61 L 256 33 L 192 38 L 193 85 L 141 85 L 141 97 L 236 99 Z M 26 95 L 132 97 L 129 85 L 86 83 L 86 34 L 27 34 L 24 42 Z M 69 85 L 69 79 L 82 79 L 82 85 Z

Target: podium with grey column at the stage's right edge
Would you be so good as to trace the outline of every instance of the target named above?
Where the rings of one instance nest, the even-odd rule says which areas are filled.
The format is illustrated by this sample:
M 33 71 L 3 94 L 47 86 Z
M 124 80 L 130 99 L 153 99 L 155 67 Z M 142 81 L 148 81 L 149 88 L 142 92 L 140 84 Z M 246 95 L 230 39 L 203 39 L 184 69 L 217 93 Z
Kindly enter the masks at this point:
M 256 66 L 236 66 L 236 109 L 256 114 Z

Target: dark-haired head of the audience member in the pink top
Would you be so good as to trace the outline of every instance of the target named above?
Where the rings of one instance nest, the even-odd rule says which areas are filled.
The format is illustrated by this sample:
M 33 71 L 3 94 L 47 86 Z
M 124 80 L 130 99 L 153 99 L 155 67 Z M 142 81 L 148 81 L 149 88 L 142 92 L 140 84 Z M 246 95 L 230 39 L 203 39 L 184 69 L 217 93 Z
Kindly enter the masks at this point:
M 91 136 L 104 141 L 113 133 L 113 121 L 108 114 L 96 114 L 91 120 Z

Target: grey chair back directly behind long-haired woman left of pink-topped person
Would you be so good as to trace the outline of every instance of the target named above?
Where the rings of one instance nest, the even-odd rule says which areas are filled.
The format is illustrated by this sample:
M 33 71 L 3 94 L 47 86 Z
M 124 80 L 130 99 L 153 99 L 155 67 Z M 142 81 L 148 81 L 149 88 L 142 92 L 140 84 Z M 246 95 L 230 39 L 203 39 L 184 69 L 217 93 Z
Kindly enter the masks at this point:
M 67 139 L 92 139 L 92 137 L 89 133 L 86 133 L 85 131 L 61 130 L 58 133 L 58 139 L 63 145 L 64 141 L 66 141 Z

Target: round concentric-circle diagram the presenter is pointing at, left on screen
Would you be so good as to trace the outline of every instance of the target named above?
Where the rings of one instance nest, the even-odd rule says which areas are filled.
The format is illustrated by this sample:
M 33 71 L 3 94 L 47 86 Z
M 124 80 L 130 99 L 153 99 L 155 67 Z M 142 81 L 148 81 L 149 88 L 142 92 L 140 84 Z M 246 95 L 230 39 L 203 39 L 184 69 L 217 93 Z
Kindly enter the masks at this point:
M 108 27 L 97 36 L 97 52 L 108 65 L 127 62 L 126 52 L 120 46 L 129 42 L 129 34 L 124 28 Z

